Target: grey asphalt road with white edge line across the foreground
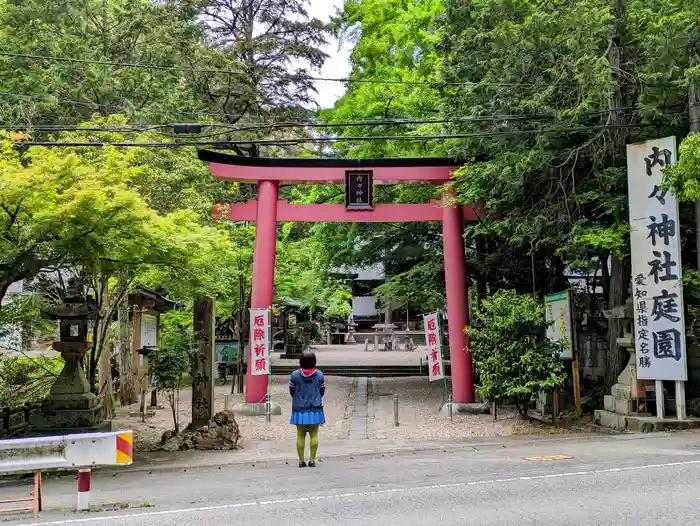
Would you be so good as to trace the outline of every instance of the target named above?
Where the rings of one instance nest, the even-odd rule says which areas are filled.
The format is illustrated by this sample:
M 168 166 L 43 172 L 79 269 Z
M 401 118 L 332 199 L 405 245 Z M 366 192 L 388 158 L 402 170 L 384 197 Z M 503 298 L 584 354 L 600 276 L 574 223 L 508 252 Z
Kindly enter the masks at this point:
M 41 521 L 7 524 L 697 525 L 700 433 L 95 475 L 83 514 L 75 481 L 45 494 Z

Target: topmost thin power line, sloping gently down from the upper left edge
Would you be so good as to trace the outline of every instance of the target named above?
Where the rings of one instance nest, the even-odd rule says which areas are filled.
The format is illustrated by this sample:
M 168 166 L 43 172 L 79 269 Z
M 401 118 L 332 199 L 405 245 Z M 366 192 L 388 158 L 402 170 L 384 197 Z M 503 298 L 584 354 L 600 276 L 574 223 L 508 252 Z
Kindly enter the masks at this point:
M 115 62 L 111 60 L 92 60 L 92 59 L 82 59 L 82 58 L 72 58 L 72 57 L 57 57 L 52 55 L 32 55 L 26 53 L 10 53 L 6 51 L 0 51 L 0 56 L 13 57 L 13 58 L 26 58 L 29 60 L 51 60 L 55 62 L 71 62 L 77 64 L 94 64 L 101 66 L 110 66 L 117 68 L 138 68 L 138 69 L 150 69 L 157 71 L 179 71 L 187 73 L 215 73 L 215 74 L 225 74 L 225 75 L 240 75 L 244 77 L 250 76 L 249 71 L 236 71 L 229 69 L 212 69 L 212 68 L 188 68 L 182 66 L 161 66 L 158 64 L 144 64 L 141 62 Z M 288 80 L 314 80 L 320 82 L 343 82 L 343 83 L 354 83 L 354 84 L 397 84 L 397 85 L 408 85 L 408 86 L 471 86 L 471 85 L 489 85 L 489 86 L 545 86 L 546 83 L 530 83 L 530 82 L 445 82 L 445 81 L 408 81 L 408 80 L 376 80 L 376 79 L 352 79 L 352 78 L 331 78 L 331 77 L 314 77 L 311 75 L 286 75 L 280 76 L 280 79 Z

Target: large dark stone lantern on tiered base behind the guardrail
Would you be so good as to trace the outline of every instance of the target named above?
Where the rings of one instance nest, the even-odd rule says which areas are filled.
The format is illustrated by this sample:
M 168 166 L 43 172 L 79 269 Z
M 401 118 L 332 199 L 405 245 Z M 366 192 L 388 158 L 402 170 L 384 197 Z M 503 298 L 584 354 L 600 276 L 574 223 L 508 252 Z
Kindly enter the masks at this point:
M 46 317 L 59 322 L 60 339 L 54 343 L 54 348 L 61 353 L 64 366 L 40 411 L 30 421 L 37 433 L 79 433 L 109 427 L 109 423 L 101 425 L 101 404 L 90 392 L 83 371 L 83 360 L 89 348 L 88 323 L 94 319 L 96 308 L 88 304 L 78 280 L 71 279 L 66 292 L 63 303 L 42 311 Z

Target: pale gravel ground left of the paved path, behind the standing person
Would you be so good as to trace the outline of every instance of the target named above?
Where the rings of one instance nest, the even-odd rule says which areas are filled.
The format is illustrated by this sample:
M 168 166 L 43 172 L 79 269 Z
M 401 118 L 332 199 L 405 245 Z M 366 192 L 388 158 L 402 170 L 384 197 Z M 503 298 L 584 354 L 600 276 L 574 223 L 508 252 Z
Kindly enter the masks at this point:
M 289 424 L 291 400 L 289 398 L 287 377 L 273 376 L 272 400 L 282 405 L 282 416 L 273 416 L 268 424 L 265 417 L 237 416 L 236 420 L 241 429 L 243 445 L 246 441 L 289 441 L 294 440 L 296 433 L 294 427 Z M 347 438 L 349 423 L 348 400 L 354 384 L 352 378 L 328 377 L 325 397 L 326 425 L 321 429 L 323 440 L 340 440 Z M 230 395 L 231 385 L 216 386 L 216 410 L 224 409 L 226 395 Z M 243 395 L 233 394 L 231 406 L 242 402 Z M 149 397 L 150 400 L 150 397 Z M 159 403 L 163 409 L 155 411 L 153 417 L 141 422 L 137 416 L 129 416 L 131 412 L 138 412 L 138 404 L 127 408 L 117 409 L 115 428 L 132 429 L 134 431 L 134 445 L 137 451 L 152 451 L 157 449 L 160 439 L 165 431 L 173 429 L 173 418 L 170 406 L 165 397 L 160 396 Z M 190 422 L 192 416 L 192 389 L 186 387 L 180 393 L 180 427 L 184 428 Z

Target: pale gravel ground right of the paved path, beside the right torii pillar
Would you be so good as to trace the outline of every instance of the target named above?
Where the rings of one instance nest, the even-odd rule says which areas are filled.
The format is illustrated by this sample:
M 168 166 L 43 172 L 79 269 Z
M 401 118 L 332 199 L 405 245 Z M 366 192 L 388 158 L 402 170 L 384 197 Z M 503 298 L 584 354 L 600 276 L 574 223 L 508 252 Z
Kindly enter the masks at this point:
M 499 409 L 496 422 L 491 415 L 455 415 L 450 422 L 438 413 L 444 403 L 444 384 L 431 384 L 425 377 L 373 378 L 370 383 L 370 439 L 401 442 L 567 432 L 522 420 L 508 409 Z M 394 427 L 395 394 L 399 395 L 399 427 Z

